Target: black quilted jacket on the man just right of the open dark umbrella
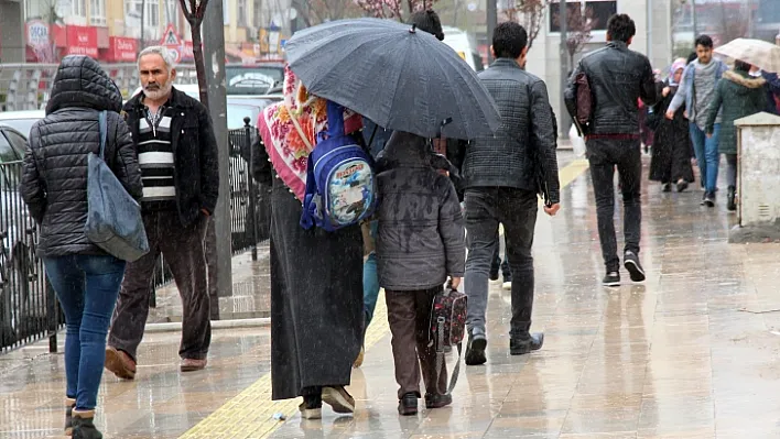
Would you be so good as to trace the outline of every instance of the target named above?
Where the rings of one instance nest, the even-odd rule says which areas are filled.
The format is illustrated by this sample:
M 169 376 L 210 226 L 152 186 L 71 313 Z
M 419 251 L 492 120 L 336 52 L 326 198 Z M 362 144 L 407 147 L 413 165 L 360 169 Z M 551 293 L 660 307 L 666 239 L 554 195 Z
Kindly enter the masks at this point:
M 508 58 L 496 59 L 479 79 L 498 106 L 501 125 L 495 135 L 475 139 L 466 149 L 464 188 L 538 191 L 537 176 L 544 174 L 550 198 L 559 202 L 557 133 L 546 85 Z

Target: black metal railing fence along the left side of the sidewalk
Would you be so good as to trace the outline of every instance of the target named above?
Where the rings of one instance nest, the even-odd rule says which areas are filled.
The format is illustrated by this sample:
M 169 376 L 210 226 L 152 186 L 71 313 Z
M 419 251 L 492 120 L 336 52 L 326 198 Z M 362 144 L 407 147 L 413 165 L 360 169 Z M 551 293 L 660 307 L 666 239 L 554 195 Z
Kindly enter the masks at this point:
M 230 226 L 234 254 L 252 251 L 269 237 L 270 189 L 260 188 L 251 175 L 251 145 L 257 129 L 247 125 L 229 133 Z M 22 163 L 0 163 L 0 353 L 50 338 L 56 351 L 56 333 L 64 326 L 43 262 L 35 254 L 37 228 L 19 193 Z M 173 281 L 160 257 L 154 286 Z M 155 297 L 150 301 L 154 306 Z

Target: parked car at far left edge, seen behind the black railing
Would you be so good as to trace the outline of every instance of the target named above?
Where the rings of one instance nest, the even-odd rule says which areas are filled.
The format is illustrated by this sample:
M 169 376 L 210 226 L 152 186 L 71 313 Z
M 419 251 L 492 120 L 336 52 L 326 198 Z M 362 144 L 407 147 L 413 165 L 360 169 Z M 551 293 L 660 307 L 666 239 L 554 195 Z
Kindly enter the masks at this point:
M 8 113 L 6 113 L 8 114 Z M 35 255 L 36 227 L 19 194 L 26 138 L 0 125 L 0 348 L 45 325 L 45 288 Z

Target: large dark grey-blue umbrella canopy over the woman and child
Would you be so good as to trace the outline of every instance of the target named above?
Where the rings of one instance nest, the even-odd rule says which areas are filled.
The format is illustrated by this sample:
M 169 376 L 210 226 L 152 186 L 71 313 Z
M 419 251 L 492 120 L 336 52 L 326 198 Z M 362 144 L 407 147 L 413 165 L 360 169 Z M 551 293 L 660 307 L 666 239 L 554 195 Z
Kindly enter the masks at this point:
M 425 138 L 491 135 L 500 114 L 476 73 L 433 35 L 391 20 L 340 20 L 284 47 L 308 90 L 379 125 Z M 442 122 L 451 120 L 442 127 Z

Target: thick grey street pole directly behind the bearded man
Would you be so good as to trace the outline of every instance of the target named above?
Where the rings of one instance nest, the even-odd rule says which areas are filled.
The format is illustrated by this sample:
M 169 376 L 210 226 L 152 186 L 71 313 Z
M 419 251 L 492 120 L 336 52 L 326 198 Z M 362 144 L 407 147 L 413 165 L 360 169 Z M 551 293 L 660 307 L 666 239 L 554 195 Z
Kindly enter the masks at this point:
M 206 84 L 208 85 L 208 110 L 214 124 L 214 135 L 217 138 L 219 147 L 219 200 L 212 218 L 215 230 L 216 284 L 219 297 L 229 297 L 232 295 L 232 249 L 230 244 L 230 153 L 226 117 L 227 90 L 225 88 L 223 0 L 210 0 L 208 2 L 202 29 Z M 206 248 L 208 249 L 209 245 Z M 215 310 L 212 311 L 214 312 Z

